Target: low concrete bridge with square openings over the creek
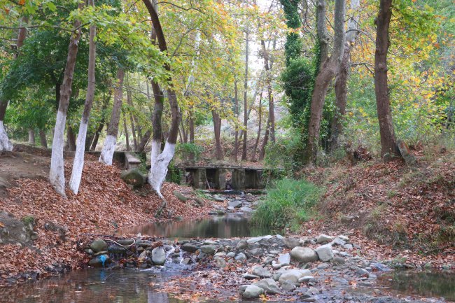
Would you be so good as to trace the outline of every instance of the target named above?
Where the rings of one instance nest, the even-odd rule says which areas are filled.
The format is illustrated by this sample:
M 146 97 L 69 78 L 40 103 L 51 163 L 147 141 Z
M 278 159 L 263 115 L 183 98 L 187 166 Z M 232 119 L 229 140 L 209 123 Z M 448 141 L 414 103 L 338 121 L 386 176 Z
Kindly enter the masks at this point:
M 265 188 L 262 178 L 263 169 L 253 167 L 211 167 L 176 165 L 183 171 L 185 183 L 200 189 L 226 188 L 244 190 L 248 188 Z M 230 180 L 228 176 L 231 176 Z

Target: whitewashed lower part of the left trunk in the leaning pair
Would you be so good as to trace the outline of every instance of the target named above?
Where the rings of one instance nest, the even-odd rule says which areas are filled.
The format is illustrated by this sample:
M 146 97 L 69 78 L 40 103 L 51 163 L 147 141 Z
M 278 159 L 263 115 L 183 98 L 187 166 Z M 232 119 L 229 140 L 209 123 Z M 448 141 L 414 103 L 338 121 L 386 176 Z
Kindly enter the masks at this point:
M 65 176 L 63 161 L 64 129 L 66 113 L 57 111 L 54 138 L 52 139 L 52 156 L 50 157 L 49 181 L 60 195 L 65 195 Z

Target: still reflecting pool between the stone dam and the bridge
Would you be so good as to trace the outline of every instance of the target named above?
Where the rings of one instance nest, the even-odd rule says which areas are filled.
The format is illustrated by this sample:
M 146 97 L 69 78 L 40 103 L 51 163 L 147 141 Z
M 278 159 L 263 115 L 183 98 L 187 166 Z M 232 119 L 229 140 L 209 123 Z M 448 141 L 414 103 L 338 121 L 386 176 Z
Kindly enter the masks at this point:
M 251 225 L 250 218 L 235 213 L 201 220 L 182 220 L 167 223 L 149 223 L 120 230 L 119 234 L 138 233 L 167 238 L 233 238 L 257 237 L 271 234 L 266 227 Z

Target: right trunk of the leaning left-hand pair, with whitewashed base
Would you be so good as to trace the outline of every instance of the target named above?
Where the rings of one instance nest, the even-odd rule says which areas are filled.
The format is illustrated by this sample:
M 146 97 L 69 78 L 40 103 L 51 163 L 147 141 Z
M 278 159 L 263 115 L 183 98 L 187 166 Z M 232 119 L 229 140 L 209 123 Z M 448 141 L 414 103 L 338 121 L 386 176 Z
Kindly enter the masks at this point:
M 89 0 L 88 4 L 94 6 L 94 0 Z M 73 160 L 73 171 L 71 171 L 71 178 L 69 179 L 69 188 L 78 194 L 80 179 L 82 178 L 82 170 L 84 167 L 84 153 L 87 141 L 87 128 L 88 120 L 90 119 L 90 111 L 92 111 L 92 104 L 94 99 L 94 70 L 95 70 L 95 59 L 96 59 L 96 43 L 94 41 L 97 35 L 97 27 L 90 26 L 89 33 L 89 49 L 88 49 L 88 74 L 87 74 L 87 93 L 85 94 L 84 111 L 82 118 L 80 118 L 78 141 L 76 144 L 76 153 L 74 154 Z M 90 143 L 89 143 L 90 144 Z

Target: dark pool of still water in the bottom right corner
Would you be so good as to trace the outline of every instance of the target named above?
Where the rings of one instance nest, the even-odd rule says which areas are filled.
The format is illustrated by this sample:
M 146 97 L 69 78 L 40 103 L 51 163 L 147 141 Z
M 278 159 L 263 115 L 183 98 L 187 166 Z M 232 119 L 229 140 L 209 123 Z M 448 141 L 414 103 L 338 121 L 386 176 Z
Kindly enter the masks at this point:
M 454 272 L 397 271 L 381 276 L 380 281 L 406 295 L 444 297 L 446 300 L 455 300 Z

